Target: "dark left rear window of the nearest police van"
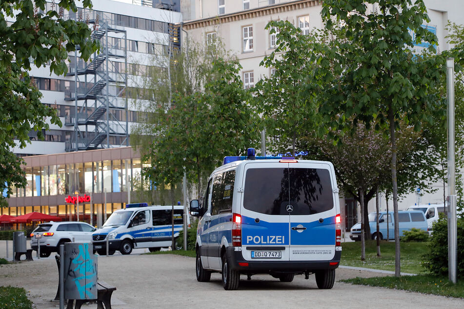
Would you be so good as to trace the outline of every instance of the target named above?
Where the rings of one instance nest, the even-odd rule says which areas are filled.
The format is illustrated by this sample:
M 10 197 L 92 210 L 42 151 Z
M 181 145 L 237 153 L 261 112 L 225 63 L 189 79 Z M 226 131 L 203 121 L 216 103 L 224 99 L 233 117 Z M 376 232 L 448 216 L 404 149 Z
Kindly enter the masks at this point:
M 265 214 L 288 214 L 288 169 L 248 169 L 245 174 L 243 207 Z

